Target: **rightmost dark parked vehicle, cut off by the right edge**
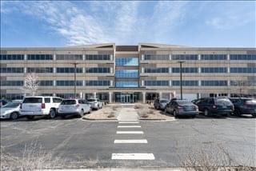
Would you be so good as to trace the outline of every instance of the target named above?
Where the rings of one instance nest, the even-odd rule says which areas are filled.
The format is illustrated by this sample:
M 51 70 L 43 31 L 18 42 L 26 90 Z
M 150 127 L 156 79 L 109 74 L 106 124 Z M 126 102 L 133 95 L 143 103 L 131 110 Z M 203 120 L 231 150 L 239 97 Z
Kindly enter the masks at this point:
M 230 97 L 230 101 L 234 104 L 234 114 L 251 114 L 256 117 L 256 99 L 246 97 Z

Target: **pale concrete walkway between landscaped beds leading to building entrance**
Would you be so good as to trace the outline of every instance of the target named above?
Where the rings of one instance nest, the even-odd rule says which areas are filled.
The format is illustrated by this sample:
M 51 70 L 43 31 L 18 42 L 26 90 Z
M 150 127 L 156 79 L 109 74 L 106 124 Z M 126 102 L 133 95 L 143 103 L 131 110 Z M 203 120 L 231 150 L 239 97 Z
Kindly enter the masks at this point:
M 134 108 L 123 107 L 119 110 L 118 121 L 138 121 L 138 113 Z

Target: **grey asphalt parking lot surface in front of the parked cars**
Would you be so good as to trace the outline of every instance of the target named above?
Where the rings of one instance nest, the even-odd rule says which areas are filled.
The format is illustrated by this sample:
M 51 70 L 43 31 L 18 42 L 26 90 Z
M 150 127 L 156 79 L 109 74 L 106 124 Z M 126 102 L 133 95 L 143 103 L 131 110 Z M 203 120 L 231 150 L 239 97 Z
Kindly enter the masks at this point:
M 39 117 L 31 121 L 19 118 L 1 121 L 1 147 L 5 153 L 22 157 L 25 146 L 35 143 L 44 152 L 68 161 L 62 167 L 86 168 L 180 166 L 189 153 L 221 147 L 229 153 L 234 165 L 255 166 L 255 123 L 251 116 L 198 115 L 194 119 L 134 124 L 84 121 L 79 117 Z M 117 133 L 123 130 L 141 131 L 142 134 Z M 116 144 L 117 139 L 142 139 L 146 143 Z M 114 153 L 152 153 L 154 160 L 114 160 Z

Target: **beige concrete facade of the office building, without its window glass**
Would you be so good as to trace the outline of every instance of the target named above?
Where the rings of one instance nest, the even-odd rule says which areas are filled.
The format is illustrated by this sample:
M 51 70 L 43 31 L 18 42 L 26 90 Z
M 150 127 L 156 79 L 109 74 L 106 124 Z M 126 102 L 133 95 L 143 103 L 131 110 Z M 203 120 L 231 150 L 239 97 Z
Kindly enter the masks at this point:
M 152 94 L 158 94 L 158 97 L 175 97 L 179 96 L 180 86 L 172 85 L 172 81 L 178 81 L 180 79 L 179 73 L 172 73 L 172 68 L 179 67 L 178 61 L 173 60 L 172 57 L 175 54 L 196 54 L 198 60 L 182 60 L 185 61 L 182 67 L 195 67 L 198 68 L 198 73 L 183 73 L 182 80 L 186 81 L 198 81 L 198 85 L 194 86 L 183 86 L 183 93 L 185 97 L 194 98 L 202 96 L 214 95 L 228 95 L 233 93 L 255 93 L 255 82 L 256 73 L 230 73 L 232 67 L 256 67 L 256 61 L 251 60 L 230 60 L 232 54 L 256 54 L 256 48 L 194 48 L 187 46 L 171 46 L 161 44 L 150 44 L 140 43 L 137 46 L 137 50 L 119 48 L 114 43 L 98 44 L 91 46 L 70 46 L 60 48 L 1 48 L 1 54 L 23 54 L 24 60 L 1 60 L 1 68 L 10 67 L 21 67 L 24 68 L 23 73 L 1 73 L 1 81 L 23 81 L 26 77 L 26 70 L 29 67 L 42 68 L 50 67 L 53 68 L 53 73 L 37 73 L 38 81 L 50 80 L 53 81 L 53 85 L 50 86 L 39 86 L 37 91 L 39 94 L 72 94 L 74 93 L 74 86 L 63 86 L 56 85 L 57 81 L 66 80 L 74 81 L 74 73 L 57 73 L 58 67 L 69 67 L 72 68 L 72 63 L 78 63 L 78 68 L 82 68 L 82 73 L 76 74 L 76 80 L 82 81 L 82 85 L 76 86 L 77 96 L 79 97 L 98 97 L 98 94 L 104 94 L 104 99 L 110 102 L 116 101 L 116 93 L 138 93 L 136 98 L 138 101 L 146 102 L 152 98 Z M 129 46 L 127 46 L 129 47 Z M 51 54 L 53 60 L 27 60 L 28 54 Z M 57 60 L 56 55 L 58 54 L 80 54 L 82 60 Z M 97 55 L 104 54 L 109 55 L 109 60 L 86 60 L 86 55 Z M 167 55 L 168 60 L 146 60 L 146 54 L 153 55 Z M 226 60 L 201 60 L 202 54 L 225 54 Z M 115 58 L 138 58 L 138 66 L 116 66 Z M 92 67 L 105 67 L 109 68 L 109 73 L 86 73 L 86 69 Z M 145 73 L 145 68 L 168 68 L 168 73 Z M 226 73 L 202 73 L 202 67 L 224 67 Z M 124 81 L 138 82 L 138 87 L 126 88 L 126 87 L 115 87 L 117 80 L 122 78 L 116 78 L 116 70 L 138 70 L 138 78 L 123 78 Z M 86 85 L 86 81 L 109 81 L 109 85 Z M 148 80 L 152 81 L 168 81 L 169 85 L 166 86 L 149 86 L 145 85 Z M 203 86 L 201 81 L 207 80 L 222 80 L 226 81 L 227 85 L 224 86 Z M 249 81 L 252 82 L 250 85 L 230 85 L 230 81 Z M 1 96 L 12 97 L 15 94 L 24 94 L 22 92 L 22 86 L 16 85 L 1 85 Z M 89 94 L 89 95 L 86 95 Z M 186 95 L 187 94 L 187 95 Z M 151 97 L 150 97 L 151 96 Z M 149 99 L 150 97 L 150 99 Z M 102 98 L 102 95 L 100 96 Z M 134 97 L 133 97 L 134 98 Z

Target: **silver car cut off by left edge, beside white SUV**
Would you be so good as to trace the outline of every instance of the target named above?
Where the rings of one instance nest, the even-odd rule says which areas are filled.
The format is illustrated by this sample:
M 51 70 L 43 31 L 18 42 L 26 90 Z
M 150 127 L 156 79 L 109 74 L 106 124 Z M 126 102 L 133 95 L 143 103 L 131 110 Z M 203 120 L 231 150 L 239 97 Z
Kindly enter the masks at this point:
M 20 113 L 19 113 L 19 106 L 21 102 L 13 101 L 9 102 L 6 105 L 3 105 L 0 113 L 1 119 L 18 119 Z

